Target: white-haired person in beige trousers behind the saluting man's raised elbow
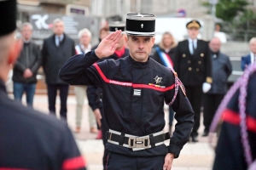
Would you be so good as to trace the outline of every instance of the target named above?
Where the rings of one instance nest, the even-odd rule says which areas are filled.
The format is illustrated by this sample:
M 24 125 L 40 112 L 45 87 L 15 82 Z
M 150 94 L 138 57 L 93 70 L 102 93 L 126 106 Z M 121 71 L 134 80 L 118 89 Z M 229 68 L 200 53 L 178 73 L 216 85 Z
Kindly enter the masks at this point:
M 79 31 L 79 45 L 75 46 L 76 54 L 86 54 L 91 50 L 91 32 L 84 28 Z M 81 129 L 81 121 L 83 116 L 83 107 L 84 107 L 84 97 L 86 95 L 87 86 L 74 86 L 74 93 L 77 99 L 77 107 L 76 107 L 76 129 L 75 133 L 79 133 Z M 96 118 L 88 108 L 89 113 L 89 125 L 90 125 L 90 133 L 97 133 L 96 129 Z

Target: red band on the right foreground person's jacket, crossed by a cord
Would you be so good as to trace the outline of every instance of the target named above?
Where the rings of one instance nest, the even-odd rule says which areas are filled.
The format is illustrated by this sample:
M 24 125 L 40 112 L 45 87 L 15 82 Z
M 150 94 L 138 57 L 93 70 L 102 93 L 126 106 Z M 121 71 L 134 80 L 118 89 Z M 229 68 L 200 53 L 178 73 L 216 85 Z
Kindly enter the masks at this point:
M 232 111 L 227 109 L 223 112 L 223 120 L 224 122 L 229 122 L 230 124 L 239 126 L 240 124 L 240 116 L 236 111 Z M 256 119 L 252 116 L 247 115 L 247 129 L 256 133 Z

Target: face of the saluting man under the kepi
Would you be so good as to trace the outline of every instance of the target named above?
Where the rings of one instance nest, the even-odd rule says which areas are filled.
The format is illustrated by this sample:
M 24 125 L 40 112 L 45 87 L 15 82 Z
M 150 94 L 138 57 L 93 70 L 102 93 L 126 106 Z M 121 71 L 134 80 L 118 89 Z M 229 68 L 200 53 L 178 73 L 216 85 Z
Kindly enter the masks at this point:
M 125 42 L 130 50 L 132 59 L 138 62 L 146 62 L 154 45 L 154 37 L 128 36 L 125 37 Z

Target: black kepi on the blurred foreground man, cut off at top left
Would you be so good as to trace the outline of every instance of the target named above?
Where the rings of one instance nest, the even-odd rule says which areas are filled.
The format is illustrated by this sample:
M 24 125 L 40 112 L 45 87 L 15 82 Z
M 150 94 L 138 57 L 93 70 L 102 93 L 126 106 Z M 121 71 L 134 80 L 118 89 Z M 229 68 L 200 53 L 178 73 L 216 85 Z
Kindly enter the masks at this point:
M 0 0 L 0 37 L 16 30 L 16 0 Z

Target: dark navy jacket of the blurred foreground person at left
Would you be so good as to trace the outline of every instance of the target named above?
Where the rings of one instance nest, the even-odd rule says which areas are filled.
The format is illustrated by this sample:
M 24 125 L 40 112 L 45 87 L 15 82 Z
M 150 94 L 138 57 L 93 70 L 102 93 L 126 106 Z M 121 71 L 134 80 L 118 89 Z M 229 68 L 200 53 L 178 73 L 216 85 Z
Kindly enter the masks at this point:
M 0 80 L 0 169 L 85 169 L 66 122 L 9 99 Z

